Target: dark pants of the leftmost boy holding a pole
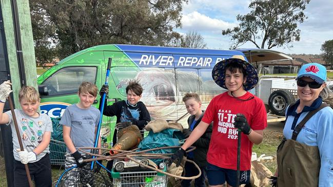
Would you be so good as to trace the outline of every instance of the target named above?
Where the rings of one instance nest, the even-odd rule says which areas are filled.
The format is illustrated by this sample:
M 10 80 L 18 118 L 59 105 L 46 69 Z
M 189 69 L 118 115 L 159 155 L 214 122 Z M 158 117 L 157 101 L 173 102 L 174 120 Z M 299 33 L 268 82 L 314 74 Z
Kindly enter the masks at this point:
M 49 154 L 42 159 L 28 163 L 31 179 L 34 180 L 36 187 L 51 187 L 51 161 Z M 29 187 L 27 173 L 21 161 L 14 160 L 14 186 Z

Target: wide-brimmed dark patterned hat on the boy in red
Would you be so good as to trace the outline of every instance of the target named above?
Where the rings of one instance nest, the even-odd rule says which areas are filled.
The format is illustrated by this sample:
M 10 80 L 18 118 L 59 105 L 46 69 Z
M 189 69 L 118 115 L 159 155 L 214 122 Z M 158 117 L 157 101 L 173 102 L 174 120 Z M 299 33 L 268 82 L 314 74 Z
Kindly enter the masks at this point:
M 224 89 L 228 89 L 225 86 L 225 67 L 230 63 L 238 63 L 244 67 L 247 73 L 246 82 L 243 85 L 244 90 L 251 90 L 257 85 L 259 79 L 258 73 L 250 63 L 245 61 L 244 56 L 242 55 L 233 55 L 231 58 L 220 61 L 213 67 L 211 76 L 217 85 Z

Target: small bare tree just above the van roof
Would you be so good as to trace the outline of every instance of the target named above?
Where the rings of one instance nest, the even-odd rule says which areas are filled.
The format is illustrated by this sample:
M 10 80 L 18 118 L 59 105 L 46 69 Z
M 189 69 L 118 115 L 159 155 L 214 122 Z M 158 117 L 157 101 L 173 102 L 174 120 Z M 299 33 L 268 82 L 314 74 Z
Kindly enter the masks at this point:
M 180 47 L 204 49 L 207 47 L 207 43 L 200 33 L 197 31 L 189 31 L 182 36 Z

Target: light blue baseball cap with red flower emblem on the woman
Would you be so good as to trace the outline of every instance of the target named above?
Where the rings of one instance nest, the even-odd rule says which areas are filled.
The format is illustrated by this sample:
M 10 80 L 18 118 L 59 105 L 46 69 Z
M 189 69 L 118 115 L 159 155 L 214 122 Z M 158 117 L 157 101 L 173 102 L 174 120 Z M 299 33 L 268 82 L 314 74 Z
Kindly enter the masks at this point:
M 319 84 L 322 84 L 326 81 L 326 68 L 318 63 L 310 63 L 303 65 L 297 74 L 296 80 L 301 77 L 310 77 L 316 80 Z

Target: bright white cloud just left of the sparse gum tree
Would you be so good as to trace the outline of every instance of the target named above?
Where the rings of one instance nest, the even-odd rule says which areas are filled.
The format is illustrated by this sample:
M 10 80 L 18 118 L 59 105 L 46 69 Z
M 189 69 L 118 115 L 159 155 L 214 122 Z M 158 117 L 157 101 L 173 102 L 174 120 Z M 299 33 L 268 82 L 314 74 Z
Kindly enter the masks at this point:
M 233 28 L 237 24 L 224 22 L 223 20 L 210 18 L 197 11 L 191 12 L 182 17 L 182 30 L 210 31 L 220 33 L 223 29 Z

